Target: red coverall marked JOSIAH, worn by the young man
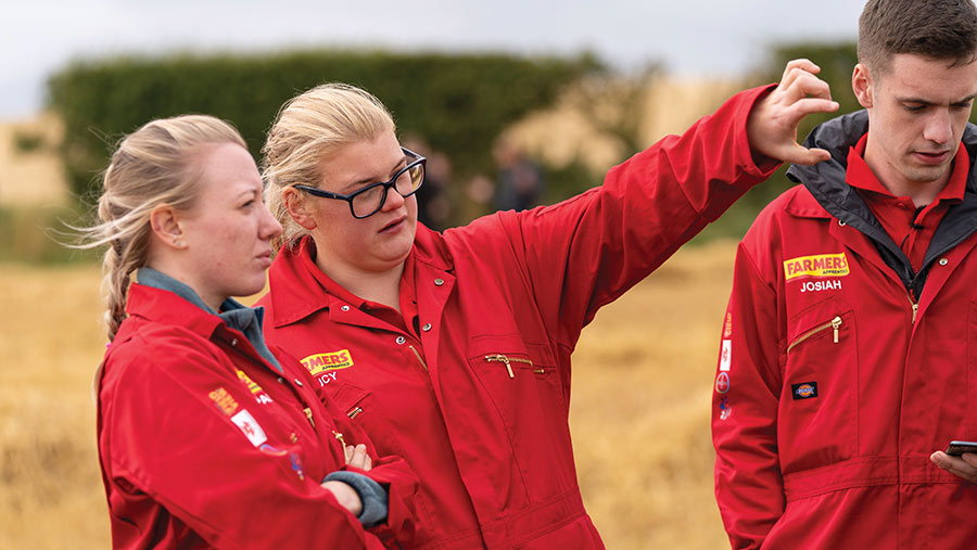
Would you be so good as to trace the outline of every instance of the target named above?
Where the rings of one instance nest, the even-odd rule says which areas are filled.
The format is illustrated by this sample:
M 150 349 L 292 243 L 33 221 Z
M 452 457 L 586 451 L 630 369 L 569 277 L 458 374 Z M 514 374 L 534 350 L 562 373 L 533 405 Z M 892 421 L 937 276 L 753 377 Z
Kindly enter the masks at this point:
M 739 245 L 712 417 L 734 548 L 977 545 L 977 486 L 929 460 L 977 437 L 973 164 L 914 272 L 846 183 L 865 131 L 864 112 L 815 129 L 833 159 L 791 168 L 804 186 Z

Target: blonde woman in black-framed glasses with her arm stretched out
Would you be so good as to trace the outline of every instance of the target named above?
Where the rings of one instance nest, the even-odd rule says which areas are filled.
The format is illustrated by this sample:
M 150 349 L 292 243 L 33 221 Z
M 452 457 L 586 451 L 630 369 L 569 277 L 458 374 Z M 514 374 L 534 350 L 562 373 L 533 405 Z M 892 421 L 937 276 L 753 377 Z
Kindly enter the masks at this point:
M 265 334 L 417 470 L 418 547 L 602 548 L 573 463 L 570 354 L 779 159 L 827 157 L 796 142 L 804 115 L 837 108 L 817 71 L 791 62 L 602 187 L 444 233 L 417 222 L 426 159 L 377 98 L 323 85 L 283 106 L 263 159 L 284 226 Z

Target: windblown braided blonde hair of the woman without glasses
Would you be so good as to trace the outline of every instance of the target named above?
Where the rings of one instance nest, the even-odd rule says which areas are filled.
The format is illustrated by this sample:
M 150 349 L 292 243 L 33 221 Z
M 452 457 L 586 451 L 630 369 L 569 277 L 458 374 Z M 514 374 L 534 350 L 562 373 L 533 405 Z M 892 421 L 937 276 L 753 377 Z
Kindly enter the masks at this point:
M 130 276 L 145 266 L 150 242 L 150 214 L 167 204 L 178 210 L 193 206 L 202 145 L 236 143 L 244 139 L 230 124 L 206 115 L 183 115 L 150 121 L 123 138 L 102 180 L 99 222 L 73 228 L 81 233 L 79 248 L 109 244 L 102 263 L 109 340 L 115 338 L 126 318 Z

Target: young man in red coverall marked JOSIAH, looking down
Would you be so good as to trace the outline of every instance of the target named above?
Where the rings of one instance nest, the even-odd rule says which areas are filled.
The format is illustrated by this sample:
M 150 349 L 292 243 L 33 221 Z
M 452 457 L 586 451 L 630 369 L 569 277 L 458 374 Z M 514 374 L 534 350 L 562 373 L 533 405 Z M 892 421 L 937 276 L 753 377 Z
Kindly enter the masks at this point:
M 870 0 L 852 87 L 739 245 L 713 394 L 734 548 L 974 548 L 977 10 Z

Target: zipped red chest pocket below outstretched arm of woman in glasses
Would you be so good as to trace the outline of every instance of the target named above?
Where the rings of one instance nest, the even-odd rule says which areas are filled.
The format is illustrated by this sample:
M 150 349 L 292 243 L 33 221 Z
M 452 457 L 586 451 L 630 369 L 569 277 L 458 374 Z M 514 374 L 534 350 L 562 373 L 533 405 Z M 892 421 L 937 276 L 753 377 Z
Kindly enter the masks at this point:
M 573 456 L 569 409 L 549 347 L 519 335 L 477 336 L 468 363 L 505 426 L 530 500 L 574 487 L 573 469 L 561 464 Z

